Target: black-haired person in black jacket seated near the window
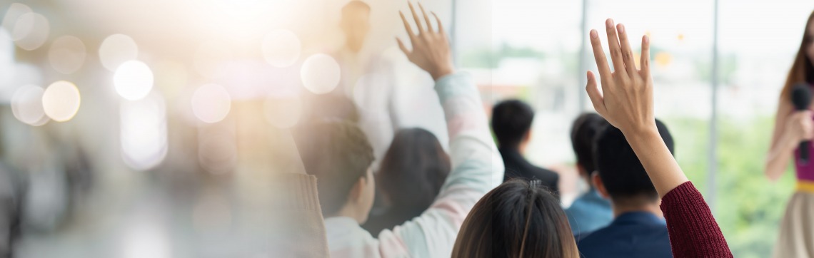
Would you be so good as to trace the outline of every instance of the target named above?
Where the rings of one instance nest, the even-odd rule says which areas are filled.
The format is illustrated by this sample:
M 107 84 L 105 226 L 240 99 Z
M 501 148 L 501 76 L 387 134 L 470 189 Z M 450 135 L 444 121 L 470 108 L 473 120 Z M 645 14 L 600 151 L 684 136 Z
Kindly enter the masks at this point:
M 534 110 L 523 101 L 501 101 L 492 108 L 492 131 L 506 168 L 503 181 L 511 178 L 539 179 L 542 187 L 559 196 L 559 175 L 534 166 L 523 157 L 526 145 L 531 140 L 533 121 Z

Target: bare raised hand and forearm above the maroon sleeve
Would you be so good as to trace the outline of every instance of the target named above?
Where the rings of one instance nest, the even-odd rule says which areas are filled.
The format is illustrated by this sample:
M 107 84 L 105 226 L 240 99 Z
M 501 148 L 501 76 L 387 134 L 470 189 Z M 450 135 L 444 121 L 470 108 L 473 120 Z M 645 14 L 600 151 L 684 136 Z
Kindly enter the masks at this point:
M 664 196 L 688 180 L 656 128 L 653 79 L 650 77 L 650 41 L 646 36 L 641 37 L 641 69 L 637 69 L 624 25 L 614 24 L 612 19 L 607 19 L 606 30 L 614 71 L 611 72 L 608 67 L 597 30 L 591 30 L 593 57 L 597 59 L 602 91 L 590 71 L 585 90 L 597 113 L 624 133 L 659 196 Z

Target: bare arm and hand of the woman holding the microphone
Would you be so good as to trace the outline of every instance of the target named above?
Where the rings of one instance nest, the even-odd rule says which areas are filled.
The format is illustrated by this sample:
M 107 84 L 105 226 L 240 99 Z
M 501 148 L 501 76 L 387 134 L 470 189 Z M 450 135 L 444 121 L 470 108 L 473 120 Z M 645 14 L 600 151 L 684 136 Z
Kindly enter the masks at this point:
M 781 98 L 777 103 L 777 114 L 772 131 L 772 144 L 769 145 L 764 173 L 776 181 L 786 171 L 794 155 L 794 148 L 802 140 L 811 140 L 814 136 L 812 112 L 794 112 L 788 99 Z

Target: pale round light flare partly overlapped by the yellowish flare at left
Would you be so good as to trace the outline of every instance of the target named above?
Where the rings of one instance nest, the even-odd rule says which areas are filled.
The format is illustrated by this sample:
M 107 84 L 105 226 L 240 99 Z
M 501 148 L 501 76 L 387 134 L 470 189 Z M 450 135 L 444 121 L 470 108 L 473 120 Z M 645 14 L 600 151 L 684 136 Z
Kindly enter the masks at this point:
M 17 89 L 11 97 L 11 113 L 17 120 L 29 125 L 41 126 L 47 123 L 48 117 L 42 108 L 44 93 L 44 89 L 34 85 Z

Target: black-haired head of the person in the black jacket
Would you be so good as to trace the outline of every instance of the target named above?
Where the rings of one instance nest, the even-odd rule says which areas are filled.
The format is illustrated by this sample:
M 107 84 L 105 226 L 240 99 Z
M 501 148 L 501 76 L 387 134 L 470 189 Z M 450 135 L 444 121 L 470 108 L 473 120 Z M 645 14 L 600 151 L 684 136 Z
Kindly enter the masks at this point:
M 532 128 L 534 110 L 519 100 L 507 100 L 492 108 L 492 131 L 501 148 L 518 146 Z

